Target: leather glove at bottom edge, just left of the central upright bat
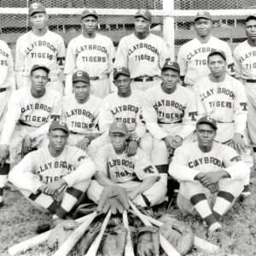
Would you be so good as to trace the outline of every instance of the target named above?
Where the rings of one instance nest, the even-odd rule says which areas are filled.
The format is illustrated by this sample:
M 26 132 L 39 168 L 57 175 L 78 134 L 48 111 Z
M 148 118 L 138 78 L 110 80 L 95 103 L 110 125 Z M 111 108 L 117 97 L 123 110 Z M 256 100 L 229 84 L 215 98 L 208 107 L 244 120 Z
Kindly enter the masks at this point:
M 117 225 L 103 242 L 102 256 L 122 256 L 128 231 L 123 224 Z

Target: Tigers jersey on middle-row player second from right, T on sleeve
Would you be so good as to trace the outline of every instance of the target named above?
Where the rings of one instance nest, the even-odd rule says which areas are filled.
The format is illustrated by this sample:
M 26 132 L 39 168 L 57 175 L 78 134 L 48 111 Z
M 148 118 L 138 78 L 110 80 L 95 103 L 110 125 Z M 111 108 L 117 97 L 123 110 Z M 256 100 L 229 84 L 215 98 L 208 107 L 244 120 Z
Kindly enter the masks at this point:
M 161 85 L 144 93 L 143 118 L 148 131 L 157 139 L 168 136 L 168 129 L 177 125 L 179 129 L 173 136 L 189 136 L 195 131 L 196 116 L 195 96 L 181 85 L 171 94 L 164 92 Z

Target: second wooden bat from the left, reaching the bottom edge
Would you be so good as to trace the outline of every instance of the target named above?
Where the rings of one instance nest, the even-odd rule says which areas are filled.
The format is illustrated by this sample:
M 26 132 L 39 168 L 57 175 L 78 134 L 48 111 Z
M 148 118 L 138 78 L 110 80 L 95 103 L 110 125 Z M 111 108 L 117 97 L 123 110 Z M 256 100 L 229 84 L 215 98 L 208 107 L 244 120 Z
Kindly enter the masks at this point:
M 88 229 L 92 221 L 96 218 L 97 212 L 92 212 L 90 218 L 84 221 L 73 233 L 64 241 L 61 247 L 53 254 L 53 256 L 66 256 L 71 251 L 74 245 L 79 241 L 80 237 L 84 235 L 85 230 Z

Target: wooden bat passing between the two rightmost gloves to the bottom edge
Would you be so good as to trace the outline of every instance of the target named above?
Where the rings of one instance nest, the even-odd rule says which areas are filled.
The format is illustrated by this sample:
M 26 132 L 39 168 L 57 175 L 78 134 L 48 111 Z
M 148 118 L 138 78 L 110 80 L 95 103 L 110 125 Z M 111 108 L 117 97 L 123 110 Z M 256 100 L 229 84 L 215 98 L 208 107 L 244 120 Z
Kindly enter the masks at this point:
M 143 213 L 140 212 L 130 200 L 129 200 L 129 203 L 130 203 L 131 209 L 133 210 L 133 212 L 135 212 L 137 217 L 141 219 L 143 224 L 145 226 L 152 226 L 152 224 L 148 221 L 148 219 L 144 217 Z M 166 237 L 162 236 L 161 234 L 160 234 L 160 246 L 164 249 L 164 251 L 168 256 L 181 256 L 179 253 L 177 253 L 177 250 L 174 247 L 172 247 L 172 244 L 166 240 Z

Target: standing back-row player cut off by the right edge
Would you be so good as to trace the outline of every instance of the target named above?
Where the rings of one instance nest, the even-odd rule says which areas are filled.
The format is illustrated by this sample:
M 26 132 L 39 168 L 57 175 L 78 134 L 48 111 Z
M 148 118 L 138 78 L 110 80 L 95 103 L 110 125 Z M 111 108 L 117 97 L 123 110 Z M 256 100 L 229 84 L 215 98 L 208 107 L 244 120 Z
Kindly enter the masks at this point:
M 234 50 L 234 61 L 236 78 L 239 79 L 247 94 L 248 135 L 256 152 L 256 15 L 249 15 L 245 20 L 245 32 L 247 40 L 236 46 Z

